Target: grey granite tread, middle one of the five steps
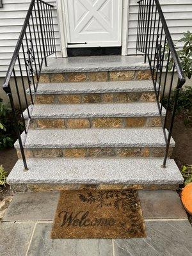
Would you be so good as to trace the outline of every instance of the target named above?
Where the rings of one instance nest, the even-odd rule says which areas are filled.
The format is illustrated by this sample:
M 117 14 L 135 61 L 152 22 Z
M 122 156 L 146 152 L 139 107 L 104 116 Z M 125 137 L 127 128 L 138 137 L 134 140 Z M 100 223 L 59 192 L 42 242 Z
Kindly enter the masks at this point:
M 165 109 L 163 109 L 165 115 Z M 119 104 L 35 104 L 31 118 L 159 116 L 156 102 Z M 24 111 L 28 118 L 28 112 Z

